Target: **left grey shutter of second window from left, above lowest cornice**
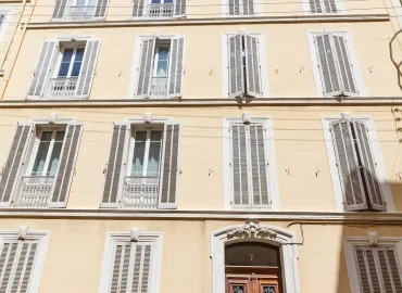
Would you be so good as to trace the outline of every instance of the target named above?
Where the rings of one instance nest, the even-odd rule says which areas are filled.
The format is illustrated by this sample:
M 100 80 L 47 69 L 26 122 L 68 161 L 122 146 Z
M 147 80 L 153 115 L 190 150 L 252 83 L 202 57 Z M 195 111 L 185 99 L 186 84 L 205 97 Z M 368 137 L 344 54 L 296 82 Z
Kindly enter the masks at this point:
M 118 191 L 126 165 L 129 129 L 127 124 L 113 125 L 101 207 L 117 207 L 118 205 Z

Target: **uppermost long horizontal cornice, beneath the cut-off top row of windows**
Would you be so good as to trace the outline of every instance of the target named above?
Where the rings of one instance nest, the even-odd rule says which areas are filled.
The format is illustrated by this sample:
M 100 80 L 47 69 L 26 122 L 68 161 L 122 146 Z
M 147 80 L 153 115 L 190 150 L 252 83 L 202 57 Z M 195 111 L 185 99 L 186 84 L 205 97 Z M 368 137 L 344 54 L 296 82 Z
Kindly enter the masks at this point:
M 387 22 L 389 14 L 338 14 L 338 15 L 293 15 L 254 17 L 209 17 L 174 20 L 128 20 L 93 22 L 46 22 L 29 23 L 28 29 L 80 28 L 80 27 L 130 27 L 130 26 L 180 26 L 180 25 L 225 25 L 225 24 L 280 24 L 280 23 L 334 23 L 334 22 Z

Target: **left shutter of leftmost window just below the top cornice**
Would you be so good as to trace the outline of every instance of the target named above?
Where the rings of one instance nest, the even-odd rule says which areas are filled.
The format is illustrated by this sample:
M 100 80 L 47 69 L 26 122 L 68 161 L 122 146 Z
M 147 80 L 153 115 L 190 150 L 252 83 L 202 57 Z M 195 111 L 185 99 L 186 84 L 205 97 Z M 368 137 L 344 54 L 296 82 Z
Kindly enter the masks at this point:
M 29 97 L 39 98 L 43 93 L 49 73 L 52 69 L 55 52 L 59 50 L 58 41 L 45 40 L 40 49 L 39 59 L 37 61 L 34 77 L 30 81 L 28 90 Z

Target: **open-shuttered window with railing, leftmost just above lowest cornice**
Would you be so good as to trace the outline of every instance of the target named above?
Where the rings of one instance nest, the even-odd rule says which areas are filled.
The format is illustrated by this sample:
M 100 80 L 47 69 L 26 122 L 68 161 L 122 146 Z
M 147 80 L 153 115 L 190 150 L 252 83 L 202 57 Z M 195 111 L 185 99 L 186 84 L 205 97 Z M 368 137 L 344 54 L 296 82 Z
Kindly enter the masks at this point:
M 65 207 L 81 130 L 76 123 L 18 124 L 0 181 L 0 206 Z

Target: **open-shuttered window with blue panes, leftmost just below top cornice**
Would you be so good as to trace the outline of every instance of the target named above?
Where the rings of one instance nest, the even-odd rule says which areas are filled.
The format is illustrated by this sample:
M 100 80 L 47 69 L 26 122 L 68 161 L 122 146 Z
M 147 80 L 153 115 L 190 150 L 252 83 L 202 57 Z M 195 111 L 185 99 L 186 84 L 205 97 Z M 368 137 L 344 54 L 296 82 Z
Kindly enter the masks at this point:
M 45 40 L 39 53 L 29 99 L 88 98 L 98 59 L 99 40 Z

